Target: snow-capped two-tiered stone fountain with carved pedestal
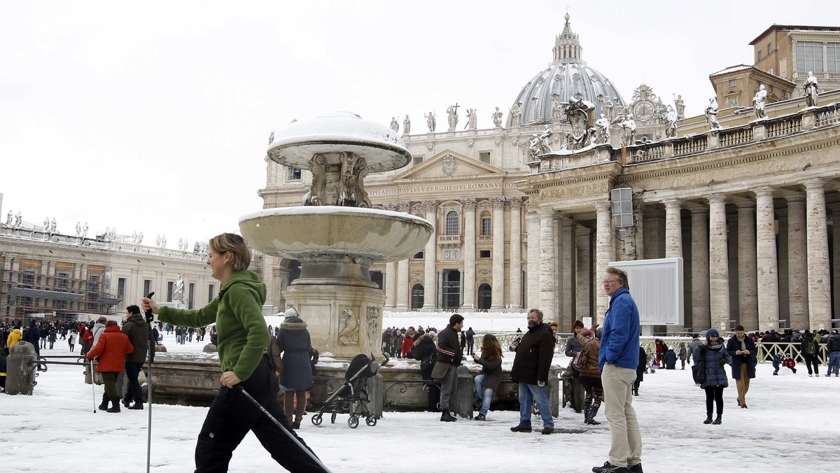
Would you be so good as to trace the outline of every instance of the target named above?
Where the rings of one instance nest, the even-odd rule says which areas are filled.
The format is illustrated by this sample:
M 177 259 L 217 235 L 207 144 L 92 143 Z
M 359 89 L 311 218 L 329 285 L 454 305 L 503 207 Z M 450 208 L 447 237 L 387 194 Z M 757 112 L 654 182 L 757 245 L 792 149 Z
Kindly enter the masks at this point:
M 338 112 L 289 124 L 268 157 L 311 171 L 312 187 L 300 207 L 239 218 L 244 239 L 265 255 L 301 262 L 284 297 L 307 322 L 313 346 L 339 358 L 379 353 L 385 294 L 370 281 L 370 265 L 415 255 L 433 227 L 370 208 L 364 179 L 406 166 L 411 154 L 392 129 Z

